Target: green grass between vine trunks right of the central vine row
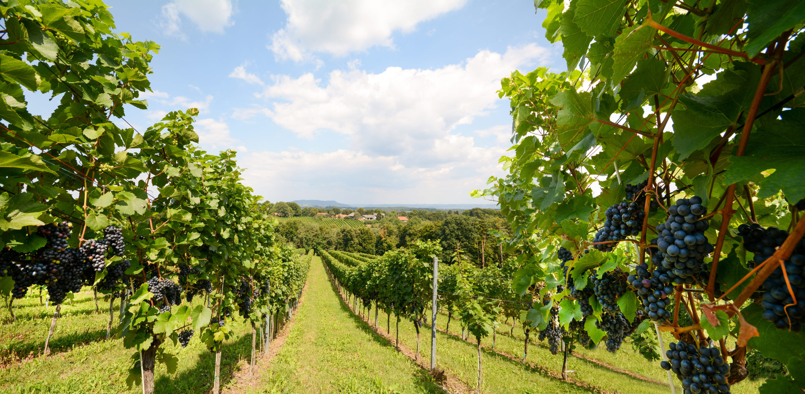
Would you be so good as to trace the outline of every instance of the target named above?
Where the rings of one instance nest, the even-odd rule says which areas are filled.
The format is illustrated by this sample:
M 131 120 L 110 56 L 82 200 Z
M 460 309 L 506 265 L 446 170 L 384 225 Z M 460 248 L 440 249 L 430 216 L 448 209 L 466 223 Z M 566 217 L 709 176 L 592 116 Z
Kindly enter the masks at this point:
M 374 312 L 373 312 L 374 313 Z M 380 323 L 380 330 L 386 330 L 386 317 L 381 311 L 381 316 L 378 318 Z M 444 329 L 447 323 L 447 315 L 440 313 L 437 326 Z M 416 331 L 410 321 L 402 319 L 400 321 L 400 342 L 411 349 L 416 348 Z M 456 375 L 464 380 L 470 387 L 475 388 L 475 379 L 477 379 L 477 349 L 475 339 L 471 338 L 473 342 L 464 342 L 460 339 L 460 324 L 453 319 L 450 323 L 450 332 L 454 335 L 444 334 L 439 332 L 436 336 L 436 363 L 439 367 L 444 367 L 449 374 Z M 523 345 L 525 335 L 522 329 L 515 327 L 514 337 L 509 334 L 510 326 L 500 326 L 498 329 L 497 339 L 495 342 L 495 349 L 508 355 L 515 357 L 522 357 Z M 394 314 L 391 315 L 391 334 L 394 335 Z M 431 346 L 430 326 L 420 329 L 420 355 L 429 357 Z M 663 333 L 663 339 L 667 343 L 673 340 L 671 334 Z M 492 338 L 484 338 L 481 341 L 484 346 L 492 346 Z M 728 346 L 733 347 L 734 344 Z M 637 375 L 642 375 L 648 379 L 654 379 L 657 382 L 667 382 L 667 372 L 659 367 L 659 362 L 648 362 L 642 355 L 632 350 L 632 346 L 626 342 L 621 346 L 621 350 L 617 353 L 609 353 L 606 351 L 605 346 L 598 346 L 595 350 L 586 350 L 584 348 L 577 348 L 576 353 L 589 358 L 601 361 L 610 366 L 617 367 L 618 369 L 630 371 Z M 551 355 L 548 350 L 547 342 L 538 342 L 536 335 L 530 336 L 530 344 L 528 346 L 528 357 L 526 361 L 535 363 L 539 367 L 547 368 L 549 371 L 555 372 L 557 375 L 562 370 L 563 357 L 559 355 Z M 558 380 L 548 377 L 547 374 L 541 374 L 539 371 L 530 370 L 529 367 L 524 366 L 522 363 L 514 362 L 500 355 L 495 355 L 489 350 L 482 350 L 481 363 L 483 369 L 483 391 L 484 392 L 528 392 L 528 384 L 539 384 L 539 388 L 547 388 L 542 383 L 542 379 L 552 379 L 554 382 Z M 519 369 L 514 365 L 506 366 L 505 364 L 519 364 L 522 367 Z M 572 379 L 579 380 L 586 384 L 591 384 L 597 388 L 601 388 L 607 392 L 619 393 L 669 393 L 671 389 L 665 384 L 656 384 L 653 382 L 646 382 L 642 379 L 634 378 L 633 376 L 613 371 L 608 367 L 599 365 L 590 360 L 583 358 L 568 356 L 568 371 L 574 371 L 568 374 Z M 522 382 L 522 388 L 517 384 Z M 679 380 L 674 377 L 677 392 L 682 392 Z M 758 392 L 758 388 L 763 384 L 763 380 L 759 379 L 752 381 L 745 379 L 732 388 L 735 394 L 749 394 Z M 532 392 L 533 388 L 531 389 Z M 543 392 L 543 391 L 536 391 Z M 553 388 L 544 392 L 563 392 L 561 387 Z

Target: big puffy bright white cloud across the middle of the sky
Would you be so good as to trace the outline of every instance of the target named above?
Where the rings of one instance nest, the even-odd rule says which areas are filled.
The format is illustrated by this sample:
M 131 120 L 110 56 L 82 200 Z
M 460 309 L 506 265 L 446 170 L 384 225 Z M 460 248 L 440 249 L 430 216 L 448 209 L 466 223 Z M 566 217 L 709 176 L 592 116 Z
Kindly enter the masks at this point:
M 260 96 L 274 99 L 270 118 L 299 137 L 336 131 L 348 135 L 357 151 L 399 156 L 431 151 L 436 139 L 495 108 L 500 79 L 515 68 L 542 63 L 548 54 L 529 44 L 503 55 L 481 51 L 464 64 L 435 70 L 336 70 L 326 85 L 310 73 L 275 76 Z

